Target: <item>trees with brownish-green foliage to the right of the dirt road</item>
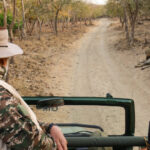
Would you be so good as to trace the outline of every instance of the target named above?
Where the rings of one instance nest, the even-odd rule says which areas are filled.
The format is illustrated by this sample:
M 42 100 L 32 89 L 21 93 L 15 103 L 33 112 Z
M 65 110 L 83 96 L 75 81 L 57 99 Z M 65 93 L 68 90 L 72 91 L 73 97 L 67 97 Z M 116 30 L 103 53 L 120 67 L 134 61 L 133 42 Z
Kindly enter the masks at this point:
M 132 46 L 136 42 L 135 31 L 139 25 L 144 26 L 144 22 L 150 21 L 150 1 L 149 0 L 108 0 L 106 13 L 109 17 L 118 17 L 125 31 L 128 45 Z M 145 34 L 145 44 L 148 44 L 147 34 Z

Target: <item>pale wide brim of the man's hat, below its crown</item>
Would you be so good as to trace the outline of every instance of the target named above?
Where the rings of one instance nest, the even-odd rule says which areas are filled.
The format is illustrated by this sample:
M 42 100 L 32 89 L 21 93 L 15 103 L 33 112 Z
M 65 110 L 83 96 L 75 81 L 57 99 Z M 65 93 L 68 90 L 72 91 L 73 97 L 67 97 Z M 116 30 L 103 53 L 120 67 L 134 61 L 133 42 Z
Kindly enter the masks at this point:
M 8 43 L 8 47 L 0 47 L 0 58 L 8 58 L 23 54 L 23 50 L 16 44 Z

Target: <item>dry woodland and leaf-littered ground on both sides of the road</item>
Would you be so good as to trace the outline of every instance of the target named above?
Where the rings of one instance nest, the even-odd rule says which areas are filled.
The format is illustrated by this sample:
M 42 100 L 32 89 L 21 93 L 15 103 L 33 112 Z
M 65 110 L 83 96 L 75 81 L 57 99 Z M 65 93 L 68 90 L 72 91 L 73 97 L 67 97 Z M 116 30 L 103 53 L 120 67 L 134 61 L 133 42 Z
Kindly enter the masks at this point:
M 110 27 L 119 50 L 150 49 L 149 0 L 108 0 L 106 6 L 81 0 L 0 1 L 0 27 L 7 27 L 10 41 L 24 50 L 10 64 L 8 82 L 21 95 L 59 95 L 66 83 L 63 67 L 73 60 L 73 43 L 101 17 L 118 18 Z

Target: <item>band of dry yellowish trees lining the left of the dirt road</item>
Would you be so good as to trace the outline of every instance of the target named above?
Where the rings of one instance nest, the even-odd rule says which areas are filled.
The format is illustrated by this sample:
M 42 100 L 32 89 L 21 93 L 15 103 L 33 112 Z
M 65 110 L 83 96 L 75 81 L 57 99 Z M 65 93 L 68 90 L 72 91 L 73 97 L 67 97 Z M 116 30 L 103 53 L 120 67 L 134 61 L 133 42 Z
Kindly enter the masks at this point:
M 103 15 L 103 7 L 80 0 L 2 0 L 0 2 L 0 26 L 9 29 L 10 40 L 14 34 L 25 39 L 48 27 L 58 35 L 74 26 L 92 25 Z

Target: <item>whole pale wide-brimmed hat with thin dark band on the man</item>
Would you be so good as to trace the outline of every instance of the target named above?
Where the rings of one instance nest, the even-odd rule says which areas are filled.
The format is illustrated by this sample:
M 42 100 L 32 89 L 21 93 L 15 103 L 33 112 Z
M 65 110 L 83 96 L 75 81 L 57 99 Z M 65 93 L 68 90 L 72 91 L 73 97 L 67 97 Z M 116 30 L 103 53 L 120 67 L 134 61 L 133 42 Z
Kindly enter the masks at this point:
M 8 42 L 8 30 L 0 29 L 0 58 L 23 54 L 23 50 L 16 44 Z

